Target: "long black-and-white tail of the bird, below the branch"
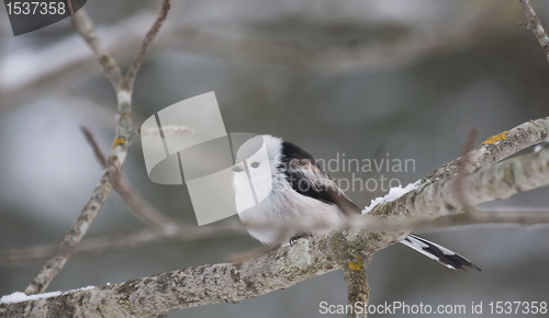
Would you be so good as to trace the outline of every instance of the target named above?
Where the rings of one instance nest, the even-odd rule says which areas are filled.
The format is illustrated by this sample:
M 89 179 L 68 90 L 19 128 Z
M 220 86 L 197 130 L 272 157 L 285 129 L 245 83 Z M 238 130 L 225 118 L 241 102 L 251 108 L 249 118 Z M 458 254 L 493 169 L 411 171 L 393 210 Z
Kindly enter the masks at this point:
M 452 270 L 481 270 L 460 254 L 455 253 L 445 247 L 430 242 L 413 234 L 401 241 L 401 243 L 421 252 L 422 254 L 430 259 L 434 259 L 435 261 Z

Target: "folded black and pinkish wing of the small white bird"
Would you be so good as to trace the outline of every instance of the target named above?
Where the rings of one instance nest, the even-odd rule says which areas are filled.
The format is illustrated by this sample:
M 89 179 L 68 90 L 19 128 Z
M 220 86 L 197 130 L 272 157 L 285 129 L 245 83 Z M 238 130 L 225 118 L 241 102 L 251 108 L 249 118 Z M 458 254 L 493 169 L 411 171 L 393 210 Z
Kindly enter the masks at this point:
M 283 141 L 281 161 L 279 169 L 284 171 L 295 192 L 335 204 L 345 215 L 361 213 L 307 151 L 292 143 Z

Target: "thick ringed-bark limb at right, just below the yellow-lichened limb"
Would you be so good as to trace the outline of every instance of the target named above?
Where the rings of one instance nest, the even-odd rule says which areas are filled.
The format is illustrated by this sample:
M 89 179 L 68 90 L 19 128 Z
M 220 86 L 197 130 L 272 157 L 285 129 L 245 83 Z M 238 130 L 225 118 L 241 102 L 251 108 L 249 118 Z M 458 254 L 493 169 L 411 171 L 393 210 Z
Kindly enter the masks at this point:
M 438 217 L 462 211 L 457 194 L 457 177 L 425 182 L 400 198 L 376 206 L 369 214 Z M 549 149 L 518 156 L 481 168 L 463 178 L 463 198 L 471 205 L 503 200 L 549 184 Z

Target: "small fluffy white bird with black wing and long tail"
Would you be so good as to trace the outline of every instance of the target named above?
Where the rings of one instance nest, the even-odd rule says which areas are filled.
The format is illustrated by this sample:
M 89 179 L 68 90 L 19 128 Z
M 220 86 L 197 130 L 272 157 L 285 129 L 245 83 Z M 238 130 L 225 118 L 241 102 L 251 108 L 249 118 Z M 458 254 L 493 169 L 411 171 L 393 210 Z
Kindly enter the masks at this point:
M 313 156 L 280 138 L 260 135 L 248 139 L 238 149 L 233 170 L 236 207 L 244 224 L 338 222 L 361 214 Z M 254 238 L 268 246 L 293 245 L 299 238 L 330 230 L 283 232 L 278 227 L 248 227 Z M 416 235 L 401 243 L 449 269 L 480 271 L 463 257 Z

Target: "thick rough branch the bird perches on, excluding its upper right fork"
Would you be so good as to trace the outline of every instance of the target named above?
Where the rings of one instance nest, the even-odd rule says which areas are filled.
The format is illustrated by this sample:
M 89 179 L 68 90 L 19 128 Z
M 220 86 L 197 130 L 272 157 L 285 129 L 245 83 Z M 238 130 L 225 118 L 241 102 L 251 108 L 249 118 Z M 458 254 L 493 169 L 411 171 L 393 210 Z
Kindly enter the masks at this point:
M 374 207 L 368 217 L 383 219 L 451 214 L 462 208 L 456 179 L 450 177 L 424 184 L 399 200 Z M 508 198 L 549 185 L 549 149 L 482 168 L 464 177 L 462 182 L 463 197 L 470 204 Z M 105 313 L 121 317 L 137 314 L 153 316 L 205 304 L 239 302 L 289 287 L 345 264 L 349 269 L 359 268 L 358 261 L 362 265 L 368 263 L 376 252 L 402 240 L 407 234 L 408 230 L 333 231 L 311 240 L 299 240 L 291 248 L 281 248 L 238 264 L 201 265 L 46 299 L 0 304 L 0 314 L 20 317 L 33 310 L 38 313 L 38 317 L 93 317 Z M 344 250 L 338 252 L 341 243 Z M 354 259 L 346 259 L 349 255 Z M 358 287 L 354 282 L 360 282 L 362 276 L 347 272 L 352 299 L 367 299 L 366 285 Z M 363 280 L 366 282 L 366 276 Z

